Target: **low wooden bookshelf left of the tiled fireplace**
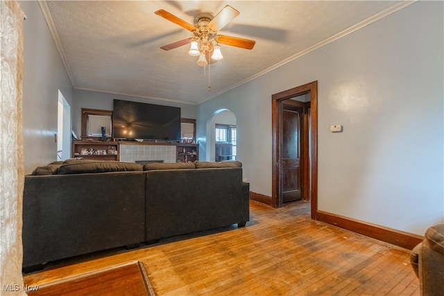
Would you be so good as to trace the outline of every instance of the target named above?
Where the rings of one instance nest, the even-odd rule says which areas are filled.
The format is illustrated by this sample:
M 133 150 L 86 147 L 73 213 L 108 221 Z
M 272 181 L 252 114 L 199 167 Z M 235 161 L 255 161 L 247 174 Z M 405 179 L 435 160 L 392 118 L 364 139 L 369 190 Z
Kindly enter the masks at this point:
M 112 141 L 72 141 L 72 157 L 119 160 L 119 143 Z

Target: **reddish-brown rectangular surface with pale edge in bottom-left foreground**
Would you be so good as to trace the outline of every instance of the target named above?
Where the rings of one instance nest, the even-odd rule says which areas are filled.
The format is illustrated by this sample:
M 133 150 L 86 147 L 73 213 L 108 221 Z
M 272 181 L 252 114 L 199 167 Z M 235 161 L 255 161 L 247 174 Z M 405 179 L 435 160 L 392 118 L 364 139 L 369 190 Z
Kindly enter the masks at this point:
M 140 261 L 132 261 L 110 268 L 88 272 L 62 281 L 28 290 L 30 296 L 154 296 L 144 268 Z

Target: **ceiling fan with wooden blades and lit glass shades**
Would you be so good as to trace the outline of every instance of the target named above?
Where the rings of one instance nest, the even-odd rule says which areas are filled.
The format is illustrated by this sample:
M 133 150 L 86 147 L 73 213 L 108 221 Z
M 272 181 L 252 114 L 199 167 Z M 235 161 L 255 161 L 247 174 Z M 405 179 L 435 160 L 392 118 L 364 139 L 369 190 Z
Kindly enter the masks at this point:
M 202 67 L 209 64 L 211 59 L 221 60 L 223 58 L 219 44 L 236 46 L 241 49 L 253 49 L 256 43 L 253 40 L 218 34 L 221 28 L 239 15 L 239 11 L 229 5 L 225 6 L 215 17 L 208 13 L 198 15 L 196 17 L 196 24 L 194 25 L 163 9 L 157 10 L 155 14 L 191 31 L 194 35 L 193 37 L 179 40 L 160 48 L 169 51 L 191 43 L 191 48 L 188 53 L 189 55 L 199 56 L 197 64 Z

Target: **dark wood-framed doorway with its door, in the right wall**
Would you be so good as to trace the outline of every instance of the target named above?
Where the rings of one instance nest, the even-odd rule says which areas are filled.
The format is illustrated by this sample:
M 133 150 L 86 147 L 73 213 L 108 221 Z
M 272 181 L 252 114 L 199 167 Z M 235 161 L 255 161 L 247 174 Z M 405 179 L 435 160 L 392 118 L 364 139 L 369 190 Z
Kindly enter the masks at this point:
M 282 207 L 292 198 L 310 200 L 312 219 L 316 219 L 318 204 L 317 87 L 314 81 L 273 94 L 271 108 L 272 206 Z M 293 150 L 289 151 L 284 145 L 291 141 Z

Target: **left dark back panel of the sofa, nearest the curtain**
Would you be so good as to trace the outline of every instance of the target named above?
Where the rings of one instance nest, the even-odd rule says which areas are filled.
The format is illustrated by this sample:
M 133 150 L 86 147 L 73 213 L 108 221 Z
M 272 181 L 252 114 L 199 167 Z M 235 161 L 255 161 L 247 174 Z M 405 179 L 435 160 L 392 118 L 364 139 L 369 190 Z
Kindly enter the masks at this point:
M 23 266 L 144 241 L 145 180 L 142 171 L 27 175 Z

